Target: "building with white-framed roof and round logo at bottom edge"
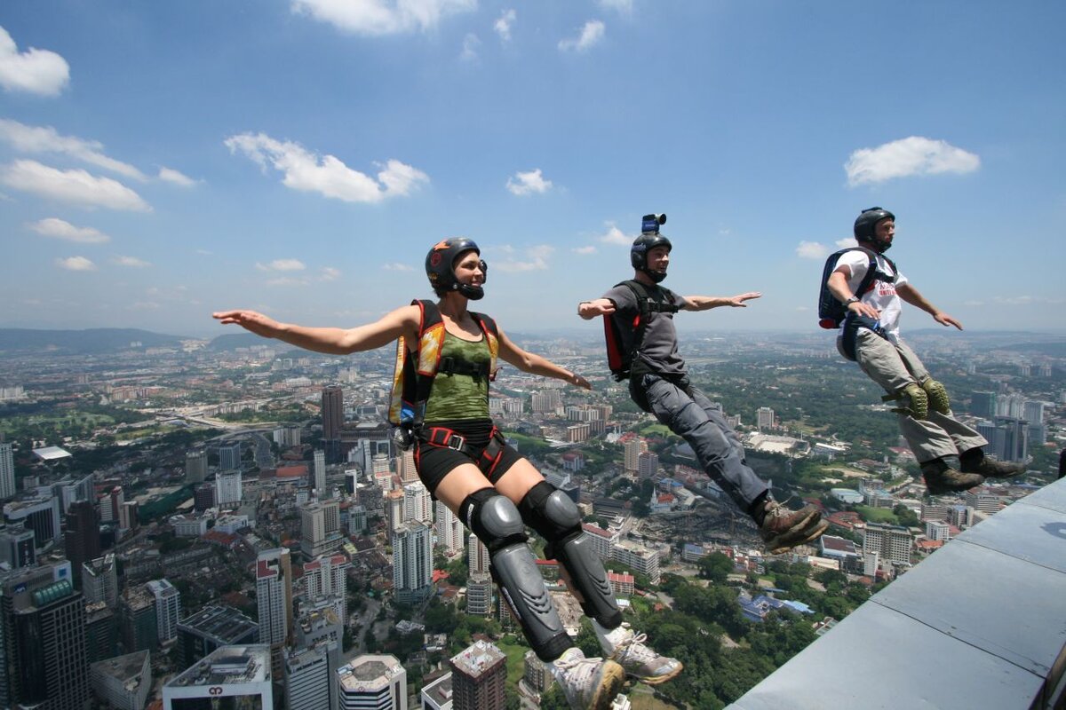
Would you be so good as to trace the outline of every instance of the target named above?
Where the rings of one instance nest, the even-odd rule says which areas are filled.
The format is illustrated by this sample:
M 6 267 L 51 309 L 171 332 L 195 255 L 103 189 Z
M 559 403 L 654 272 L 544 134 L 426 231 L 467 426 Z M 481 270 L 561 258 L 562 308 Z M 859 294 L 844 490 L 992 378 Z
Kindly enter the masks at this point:
M 223 646 L 163 686 L 163 710 L 274 710 L 271 678 L 269 646 Z

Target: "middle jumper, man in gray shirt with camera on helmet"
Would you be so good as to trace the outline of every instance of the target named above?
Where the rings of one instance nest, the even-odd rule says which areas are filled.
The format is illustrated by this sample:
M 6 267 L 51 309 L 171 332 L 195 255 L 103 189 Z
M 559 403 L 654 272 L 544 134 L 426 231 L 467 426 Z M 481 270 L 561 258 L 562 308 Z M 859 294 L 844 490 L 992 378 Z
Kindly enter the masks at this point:
M 755 519 L 772 552 L 811 542 L 827 527 L 818 509 L 806 506 L 790 511 L 770 497 L 766 483 L 746 464 L 744 447 L 721 409 L 692 386 L 678 354 L 675 313 L 720 306 L 745 308 L 745 301 L 761 294 L 678 296 L 660 286 L 672 249 L 669 240 L 659 233 L 659 225 L 665 221 L 665 215 L 644 218 L 644 231 L 630 250 L 633 279 L 611 288 L 602 298 L 582 301 L 578 315 L 586 320 L 598 315 L 612 319 L 618 350 L 628 361 L 633 401 L 692 446 L 704 470 Z

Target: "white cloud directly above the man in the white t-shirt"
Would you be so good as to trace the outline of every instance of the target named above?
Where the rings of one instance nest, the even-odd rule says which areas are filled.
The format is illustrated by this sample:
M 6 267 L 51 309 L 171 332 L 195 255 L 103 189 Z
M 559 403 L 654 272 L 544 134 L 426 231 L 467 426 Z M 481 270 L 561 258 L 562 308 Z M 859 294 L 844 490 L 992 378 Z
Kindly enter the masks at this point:
M 844 170 L 851 186 L 878 183 L 915 175 L 973 172 L 981 159 L 944 141 L 912 135 L 876 148 L 860 148 L 851 154 Z

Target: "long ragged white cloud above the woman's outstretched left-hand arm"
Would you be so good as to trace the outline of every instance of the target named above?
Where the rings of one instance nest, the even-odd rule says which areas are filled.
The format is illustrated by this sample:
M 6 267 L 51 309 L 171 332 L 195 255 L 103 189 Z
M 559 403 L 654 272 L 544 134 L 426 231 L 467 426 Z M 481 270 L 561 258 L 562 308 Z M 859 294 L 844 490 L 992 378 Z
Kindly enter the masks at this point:
M 407 195 L 420 183 L 430 181 L 421 170 L 397 160 L 388 161 L 374 180 L 333 155 L 319 156 L 300 144 L 275 141 L 263 133 L 235 135 L 226 139 L 226 147 L 231 153 L 244 153 L 260 167 L 269 165 L 284 174 L 281 183 L 287 187 L 345 202 L 379 202 Z

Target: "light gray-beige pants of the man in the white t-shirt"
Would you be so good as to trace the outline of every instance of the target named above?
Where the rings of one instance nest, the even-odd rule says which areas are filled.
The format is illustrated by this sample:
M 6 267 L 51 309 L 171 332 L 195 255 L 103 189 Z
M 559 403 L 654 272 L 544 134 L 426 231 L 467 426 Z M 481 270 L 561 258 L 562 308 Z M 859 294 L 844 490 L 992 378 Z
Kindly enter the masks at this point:
M 895 394 L 911 382 L 921 384 L 930 377 L 922 361 L 902 341 L 892 343 L 866 328 L 858 331 L 855 357 L 867 377 L 888 394 Z M 918 463 L 942 456 L 958 456 L 988 444 L 988 440 L 956 419 L 951 412 L 940 414 L 931 409 L 924 419 L 899 413 L 899 423 L 900 432 L 907 440 Z

